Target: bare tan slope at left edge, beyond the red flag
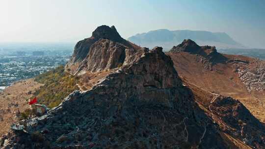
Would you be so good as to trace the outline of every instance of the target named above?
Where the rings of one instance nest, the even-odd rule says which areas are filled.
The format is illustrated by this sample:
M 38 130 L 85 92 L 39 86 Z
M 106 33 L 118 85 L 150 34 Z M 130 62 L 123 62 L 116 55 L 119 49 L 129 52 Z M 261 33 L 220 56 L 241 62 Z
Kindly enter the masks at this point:
M 14 83 L 0 93 L 0 136 L 7 133 L 10 125 L 18 121 L 19 112 L 29 108 L 28 99 L 40 86 L 42 84 L 28 79 Z

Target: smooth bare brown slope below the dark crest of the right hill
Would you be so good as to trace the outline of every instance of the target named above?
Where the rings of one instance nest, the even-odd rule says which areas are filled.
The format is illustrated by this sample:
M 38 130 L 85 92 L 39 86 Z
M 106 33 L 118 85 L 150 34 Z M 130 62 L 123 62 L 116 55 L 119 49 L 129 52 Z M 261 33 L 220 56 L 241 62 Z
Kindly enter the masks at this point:
M 209 92 L 230 96 L 239 99 L 250 112 L 261 122 L 265 122 L 265 92 L 249 92 L 238 76 L 237 67 L 250 67 L 255 59 L 241 55 L 223 54 L 228 59 L 248 61 L 244 63 L 217 63 L 212 70 L 205 69 L 200 62 L 200 55 L 188 52 L 167 52 L 170 55 L 175 69 L 187 84 L 196 85 L 198 88 Z M 254 68 L 253 68 L 254 69 Z

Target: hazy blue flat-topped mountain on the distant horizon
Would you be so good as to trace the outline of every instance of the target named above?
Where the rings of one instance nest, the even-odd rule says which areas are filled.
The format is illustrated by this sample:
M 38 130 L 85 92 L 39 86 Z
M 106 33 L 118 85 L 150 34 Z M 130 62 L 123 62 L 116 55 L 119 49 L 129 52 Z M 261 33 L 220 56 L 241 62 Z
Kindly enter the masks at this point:
M 129 41 L 141 47 L 161 46 L 164 50 L 170 50 L 184 39 L 191 39 L 199 45 L 216 46 L 218 49 L 244 48 L 224 32 L 158 29 L 128 38 Z

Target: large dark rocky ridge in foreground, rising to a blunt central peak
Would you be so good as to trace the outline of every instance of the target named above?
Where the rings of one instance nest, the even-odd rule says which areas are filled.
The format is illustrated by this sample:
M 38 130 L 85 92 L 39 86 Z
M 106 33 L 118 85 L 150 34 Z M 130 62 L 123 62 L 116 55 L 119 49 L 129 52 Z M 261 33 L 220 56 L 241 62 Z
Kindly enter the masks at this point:
M 27 131 L 37 130 L 42 141 L 15 132 L 3 149 L 227 148 L 170 57 L 159 47 L 142 55 L 91 90 L 72 93 L 29 126 Z

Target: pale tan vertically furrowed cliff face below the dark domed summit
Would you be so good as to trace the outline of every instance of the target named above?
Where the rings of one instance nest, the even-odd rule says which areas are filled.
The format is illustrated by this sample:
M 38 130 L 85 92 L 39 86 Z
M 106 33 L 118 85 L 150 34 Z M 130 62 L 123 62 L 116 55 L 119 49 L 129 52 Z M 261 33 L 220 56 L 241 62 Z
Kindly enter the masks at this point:
M 138 59 L 146 48 L 132 49 L 108 39 L 100 39 L 90 47 L 90 51 L 79 65 L 77 72 L 99 72 L 121 67 Z

